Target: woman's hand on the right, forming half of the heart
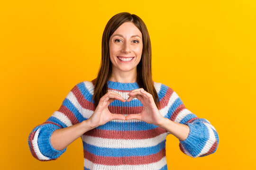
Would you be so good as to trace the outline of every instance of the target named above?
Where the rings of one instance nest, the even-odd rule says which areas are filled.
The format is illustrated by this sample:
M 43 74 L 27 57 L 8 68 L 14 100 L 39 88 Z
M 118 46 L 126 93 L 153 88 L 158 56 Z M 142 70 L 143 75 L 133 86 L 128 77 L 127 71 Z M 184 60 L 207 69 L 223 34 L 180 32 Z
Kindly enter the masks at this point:
M 157 109 L 152 94 L 147 93 L 143 88 L 139 88 L 131 91 L 128 95 L 129 97 L 126 102 L 130 102 L 133 98 L 137 98 L 143 104 L 143 110 L 139 114 L 129 114 L 126 116 L 126 120 L 138 119 L 156 126 L 161 125 L 161 122 L 163 122 L 165 118 Z

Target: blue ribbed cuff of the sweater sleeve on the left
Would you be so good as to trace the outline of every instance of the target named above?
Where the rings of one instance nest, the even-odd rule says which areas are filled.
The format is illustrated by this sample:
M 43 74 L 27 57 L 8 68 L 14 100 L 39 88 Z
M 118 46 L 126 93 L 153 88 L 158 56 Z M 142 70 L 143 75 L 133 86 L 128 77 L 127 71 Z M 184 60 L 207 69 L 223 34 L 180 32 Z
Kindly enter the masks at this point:
M 59 128 L 60 127 L 53 124 L 46 124 L 42 126 L 39 131 L 39 135 L 37 139 L 39 150 L 43 155 L 51 159 L 58 158 L 67 149 L 66 147 L 61 151 L 56 150 L 50 142 L 50 137 L 52 136 L 53 132 Z

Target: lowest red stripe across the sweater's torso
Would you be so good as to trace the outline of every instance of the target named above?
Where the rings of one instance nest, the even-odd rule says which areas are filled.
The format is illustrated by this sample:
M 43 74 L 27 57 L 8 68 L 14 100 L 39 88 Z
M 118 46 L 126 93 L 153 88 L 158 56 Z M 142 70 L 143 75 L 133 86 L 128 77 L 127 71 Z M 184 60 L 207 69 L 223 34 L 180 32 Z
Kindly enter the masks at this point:
M 92 153 L 83 150 L 84 158 L 95 164 L 101 165 L 141 165 L 149 164 L 160 161 L 165 157 L 165 148 L 163 148 L 159 153 L 155 153 L 148 156 L 125 156 L 125 157 L 106 157 L 97 156 Z

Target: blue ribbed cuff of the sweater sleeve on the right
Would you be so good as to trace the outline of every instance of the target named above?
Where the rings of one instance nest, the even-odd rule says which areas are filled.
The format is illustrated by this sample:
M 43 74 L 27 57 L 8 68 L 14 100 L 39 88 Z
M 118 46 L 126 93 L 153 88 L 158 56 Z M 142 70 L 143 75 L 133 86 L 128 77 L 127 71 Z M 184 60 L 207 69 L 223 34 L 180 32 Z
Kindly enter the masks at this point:
M 190 128 L 189 136 L 184 141 L 179 141 L 192 156 L 197 156 L 209 138 L 208 128 L 200 121 L 186 125 Z

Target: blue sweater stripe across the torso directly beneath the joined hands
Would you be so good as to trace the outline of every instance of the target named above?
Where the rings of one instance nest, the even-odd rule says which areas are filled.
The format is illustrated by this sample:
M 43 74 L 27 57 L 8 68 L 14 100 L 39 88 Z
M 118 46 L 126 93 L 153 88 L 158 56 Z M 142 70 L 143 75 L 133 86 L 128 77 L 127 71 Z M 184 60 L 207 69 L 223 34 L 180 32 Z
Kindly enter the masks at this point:
M 148 124 L 144 121 L 141 122 L 113 122 L 109 121 L 104 125 L 95 127 L 101 130 L 115 130 L 115 131 L 138 131 L 138 130 L 150 130 L 158 126 Z

